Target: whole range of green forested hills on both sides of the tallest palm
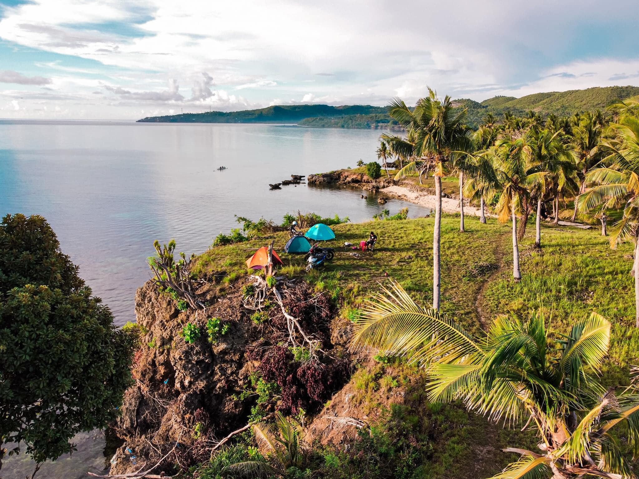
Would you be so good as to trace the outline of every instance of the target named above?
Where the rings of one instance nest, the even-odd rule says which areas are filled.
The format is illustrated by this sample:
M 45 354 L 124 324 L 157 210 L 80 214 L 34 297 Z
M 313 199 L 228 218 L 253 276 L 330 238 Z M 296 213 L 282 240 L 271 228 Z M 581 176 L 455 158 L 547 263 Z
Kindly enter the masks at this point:
M 636 86 L 594 87 L 585 90 L 553 91 L 534 93 L 515 98 L 495 96 L 475 102 L 465 98 L 454 100 L 459 108 L 468 109 L 468 125 L 476 128 L 486 114 L 501 118 L 510 110 L 516 116 L 523 116 L 528 110 L 542 116 L 555 114 L 569 116 L 585 110 L 605 109 L 614 100 L 624 100 L 639 95 Z M 258 110 L 237 112 L 184 113 L 170 116 L 151 116 L 138 121 L 158 123 L 298 123 L 304 126 L 330 128 L 392 128 L 397 125 L 390 119 L 384 107 L 371 105 L 281 105 Z

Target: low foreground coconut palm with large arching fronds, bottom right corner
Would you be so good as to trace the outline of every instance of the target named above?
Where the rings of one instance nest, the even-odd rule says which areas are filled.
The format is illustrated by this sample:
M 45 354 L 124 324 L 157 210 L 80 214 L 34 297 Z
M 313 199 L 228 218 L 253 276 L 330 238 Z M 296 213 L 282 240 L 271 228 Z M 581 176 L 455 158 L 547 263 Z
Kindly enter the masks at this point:
M 432 402 L 462 400 L 489 420 L 535 430 L 539 452 L 520 454 L 493 479 L 633 477 L 615 439 L 624 426 L 639 446 L 639 394 L 615 396 L 599 383 L 610 344 L 610 323 L 596 313 L 569 331 L 551 331 L 543 315 L 528 321 L 499 316 L 486 333 L 471 335 L 437 310 L 419 307 L 396 283 L 362 308 L 353 349 L 374 347 L 406 356 L 429 376 Z

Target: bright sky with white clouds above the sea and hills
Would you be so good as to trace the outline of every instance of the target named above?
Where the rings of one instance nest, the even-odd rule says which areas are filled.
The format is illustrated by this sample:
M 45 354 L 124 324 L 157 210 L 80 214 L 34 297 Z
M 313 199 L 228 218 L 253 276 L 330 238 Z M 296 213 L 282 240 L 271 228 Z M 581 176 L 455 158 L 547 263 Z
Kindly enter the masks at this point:
M 0 118 L 639 85 L 637 0 L 0 0 Z

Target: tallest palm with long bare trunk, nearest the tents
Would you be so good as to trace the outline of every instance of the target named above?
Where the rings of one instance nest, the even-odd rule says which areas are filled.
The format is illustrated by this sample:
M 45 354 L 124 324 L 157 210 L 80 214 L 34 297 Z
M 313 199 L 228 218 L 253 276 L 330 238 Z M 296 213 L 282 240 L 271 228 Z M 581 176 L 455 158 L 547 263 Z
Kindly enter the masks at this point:
M 417 100 L 411 110 L 399 98 L 390 103 L 391 118 L 415 134 L 417 157 L 431 157 L 435 162 L 435 229 L 433 232 L 433 307 L 440 307 L 441 258 L 440 235 L 442 231 L 442 175 L 452 151 L 465 150 L 470 143 L 466 129 L 466 109 L 456 112 L 450 96 L 440 100 L 429 88 L 429 96 Z

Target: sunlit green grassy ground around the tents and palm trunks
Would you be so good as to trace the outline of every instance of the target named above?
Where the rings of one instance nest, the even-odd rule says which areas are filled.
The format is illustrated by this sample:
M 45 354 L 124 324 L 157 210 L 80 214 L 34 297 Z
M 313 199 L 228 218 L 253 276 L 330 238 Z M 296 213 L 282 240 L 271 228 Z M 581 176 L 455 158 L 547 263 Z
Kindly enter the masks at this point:
M 476 218 L 466 219 L 467 232 L 458 232 L 459 220 L 445 217 L 442 224 L 442 310 L 453 316 L 466 329 L 477 332 L 482 326 L 477 310 L 481 303 L 488 321 L 497 314 L 512 312 L 525 318 L 543 308 L 553 326 L 565 331 L 590 311 L 597 311 L 613 323 L 610 360 L 604 368 L 604 381 L 623 384 L 627 381 L 627 367 L 636 363 L 639 330 L 634 324 L 633 278 L 631 247 L 621 245 L 611 250 L 608 241 L 596 230 L 584 231 L 564 227 L 543 227 L 541 252 L 530 246 L 534 241 L 532 229 L 521 245 L 522 281 L 512 281 L 512 244 L 509 225 L 491 220 L 482 225 Z M 358 243 L 373 229 L 379 236 L 378 249 L 373 255 L 357 259 L 341 248 L 333 262 L 323 271 L 312 271 L 307 279 L 318 290 L 329 291 L 343 301 L 342 314 L 348 315 L 370 291 L 384 282 L 384 273 L 401 282 L 419 303 L 431 300 L 432 285 L 432 218 L 415 220 L 343 224 L 334 227 L 337 239 L 332 246 L 344 241 Z M 275 248 L 282 250 L 288 236 L 277 233 L 269 238 L 249 243 L 213 248 L 197 259 L 197 270 L 233 271 L 233 278 L 245 274 L 244 261 L 251 251 L 275 239 Z M 301 257 L 282 254 L 287 265 L 282 272 L 303 275 Z M 496 265 L 493 273 L 482 273 L 482 265 Z M 481 294 L 480 294 L 481 293 Z M 479 296 L 478 296 L 479 295 Z M 378 370 L 379 369 L 379 370 Z M 353 384 L 362 384 L 360 400 L 374 406 L 380 400 L 382 375 L 397 377 L 403 383 L 406 374 L 420 374 L 417 370 L 358 370 Z M 359 376 L 358 376 L 359 375 Z M 378 379 L 374 379 L 378 377 Z M 372 383 L 371 383 L 372 381 Z M 375 383 L 377 381 L 377 383 Z M 459 406 L 427 404 L 423 386 L 408 389 L 418 406 L 410 414 L 419 416 L 420 430 L 432 437 L 432 449 L 426 467 L 428 476 L 444 478 L 459 476 L 477 479 L 488 477 L 514 459 L 500 452 L 509 446 L 534 445 L 534 438 L 518 429 L 502 429 L 488 424 Z M 409 416 L 410 416 L 409 414 Z

